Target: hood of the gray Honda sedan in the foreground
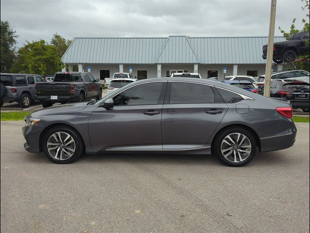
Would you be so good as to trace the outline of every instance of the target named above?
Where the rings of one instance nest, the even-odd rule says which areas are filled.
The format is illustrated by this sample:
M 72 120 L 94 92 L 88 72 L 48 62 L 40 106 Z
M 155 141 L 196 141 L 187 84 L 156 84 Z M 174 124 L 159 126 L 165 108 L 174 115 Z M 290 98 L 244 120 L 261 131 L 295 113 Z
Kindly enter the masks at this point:
M 79 103 L 72 103 L 72 104 L 61 104 L 52 106 L 49 108 L 38 109 L 31 113 L 31 117 L 36 116 L 44 116 L 44 115 L 51 115 L 51 114 L 58 114 L 58 113 L 66 113 L 66 112 L 78 112 L 87 107 L 87 103 L 89 102 L 79 102 Z

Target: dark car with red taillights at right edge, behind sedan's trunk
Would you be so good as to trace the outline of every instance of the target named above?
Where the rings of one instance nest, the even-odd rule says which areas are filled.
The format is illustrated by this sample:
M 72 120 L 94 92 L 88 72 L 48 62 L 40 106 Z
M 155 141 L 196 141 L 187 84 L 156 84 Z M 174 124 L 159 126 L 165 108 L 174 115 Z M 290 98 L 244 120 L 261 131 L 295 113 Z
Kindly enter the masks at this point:
M 264 86 L 261 89 L 263 90 Z M 289 100 L 293 108 L 301 108 L 304 112 L 309 112 L 309 83 L 272 80 L 270 83 L 270 97 Z

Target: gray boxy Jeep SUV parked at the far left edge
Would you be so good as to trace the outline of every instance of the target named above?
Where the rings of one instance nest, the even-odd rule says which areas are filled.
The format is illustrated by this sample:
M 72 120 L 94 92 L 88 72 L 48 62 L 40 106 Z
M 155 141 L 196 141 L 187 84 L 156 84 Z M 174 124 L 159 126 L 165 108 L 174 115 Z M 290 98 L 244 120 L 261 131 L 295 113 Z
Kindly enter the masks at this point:
M 4 102 L 18 102 L 21 108 L 28 108 L 35 100 L 37 82 L 43 82 L 41 75 L 1 73 L 1 106 Z

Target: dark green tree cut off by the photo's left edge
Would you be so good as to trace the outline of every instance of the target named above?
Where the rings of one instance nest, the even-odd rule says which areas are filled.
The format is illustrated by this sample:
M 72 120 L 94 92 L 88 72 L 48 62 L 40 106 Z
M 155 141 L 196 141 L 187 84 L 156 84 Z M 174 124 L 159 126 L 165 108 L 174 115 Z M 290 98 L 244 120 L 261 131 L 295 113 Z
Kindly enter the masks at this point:
M 0 22 L 0 70 L 3 73 L 9 72 L 16 59 L 16 31 L 13 31 L 8 21 Z

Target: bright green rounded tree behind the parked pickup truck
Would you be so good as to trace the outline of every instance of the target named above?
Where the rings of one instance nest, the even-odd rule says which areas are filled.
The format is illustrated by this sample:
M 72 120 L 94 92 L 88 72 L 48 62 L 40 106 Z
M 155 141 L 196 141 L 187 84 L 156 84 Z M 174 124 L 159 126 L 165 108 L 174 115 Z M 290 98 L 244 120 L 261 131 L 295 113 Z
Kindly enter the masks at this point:
M 44 40 L 26 42 L 27 44 L 18 50 L 14 72 L 35 73 L 45 77 L 62 69 L 62 61 L 55 46 Z

